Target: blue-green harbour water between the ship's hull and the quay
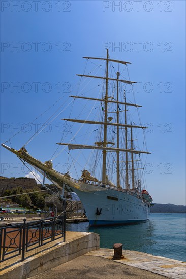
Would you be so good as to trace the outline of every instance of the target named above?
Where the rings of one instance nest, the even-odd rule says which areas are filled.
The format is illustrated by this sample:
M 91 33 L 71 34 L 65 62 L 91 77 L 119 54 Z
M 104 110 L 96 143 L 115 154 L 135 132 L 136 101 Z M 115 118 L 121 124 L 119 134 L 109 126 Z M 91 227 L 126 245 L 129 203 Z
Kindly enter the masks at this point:
M 152 213 L 146 223 L 128 226 L 92 228 L 83 222 L 67 224 L 66 228 L 67 231 L 98 233 L 101 248 L 122 243 L 123 249 L 186 261 L 186 214 Z

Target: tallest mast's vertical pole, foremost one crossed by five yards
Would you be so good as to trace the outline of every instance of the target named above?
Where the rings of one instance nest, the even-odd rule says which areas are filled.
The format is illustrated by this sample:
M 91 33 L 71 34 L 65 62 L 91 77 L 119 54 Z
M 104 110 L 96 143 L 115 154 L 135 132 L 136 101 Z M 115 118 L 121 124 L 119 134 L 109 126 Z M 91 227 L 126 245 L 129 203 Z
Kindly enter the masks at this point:
M 105 117 L 104 122 L 107 122 L 107 114 L 108 114 L 108 49 L 107 49 L 107 62 L 106 62 L 106 88 L 105 88 Z M 104 124 L 104 138 L 103 138 L 103 147 L 107 146 L 107 125 Z M 103 166 L 102 166 L 102 182 L 106 182 L 106 162 L 107 162 L 107 151 L 103 150 Z

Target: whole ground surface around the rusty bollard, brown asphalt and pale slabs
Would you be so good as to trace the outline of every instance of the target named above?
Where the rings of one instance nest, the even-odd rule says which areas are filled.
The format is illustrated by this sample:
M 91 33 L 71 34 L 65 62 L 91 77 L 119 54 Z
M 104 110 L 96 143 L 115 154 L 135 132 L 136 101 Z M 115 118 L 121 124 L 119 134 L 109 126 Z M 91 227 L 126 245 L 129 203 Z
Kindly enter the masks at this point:
M 112 260 L 113 249 L 100 248 L 29 279 L 163 279 L 185 278 L 185 262 L 123 250 L 122 260 Z

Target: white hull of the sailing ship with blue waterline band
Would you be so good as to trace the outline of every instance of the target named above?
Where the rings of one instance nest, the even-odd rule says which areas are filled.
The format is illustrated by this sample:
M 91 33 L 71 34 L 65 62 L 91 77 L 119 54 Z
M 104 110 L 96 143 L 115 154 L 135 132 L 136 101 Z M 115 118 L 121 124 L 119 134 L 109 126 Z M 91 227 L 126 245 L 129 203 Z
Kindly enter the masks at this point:
M 121 225 L 149 220 L 150 205 L 136 195 L 99 188 L 99 191 L 84 192 L 71 187 L 83 203 L 90 226 Z

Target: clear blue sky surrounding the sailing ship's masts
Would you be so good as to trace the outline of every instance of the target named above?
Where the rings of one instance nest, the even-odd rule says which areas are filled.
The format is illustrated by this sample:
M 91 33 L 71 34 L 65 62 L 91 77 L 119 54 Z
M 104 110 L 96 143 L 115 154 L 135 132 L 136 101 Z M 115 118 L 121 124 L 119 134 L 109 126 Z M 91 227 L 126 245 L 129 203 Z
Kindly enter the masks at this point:
M 16 149 L 25 144 L 36 125 L 76 94 L 82 57 L 103 57 L 108 46 L 110 57 L 132 62 L 130 78 L 141 82 L 135 96 L 143 124 L 153 128 L 146 133 L 153 201 L 185 204 L 184 1 L 2 1 L 1 41 L 1 143 L 60 99 L 11 139 Z M 27 145 L 30 154 L 50 159 L 62 117 Z M 64 170 L 65 163 L 61 154 L 54 165 Z M 18 158 L 2 147 L 1 175 L 26 175 Z

